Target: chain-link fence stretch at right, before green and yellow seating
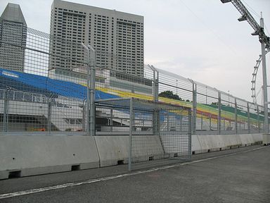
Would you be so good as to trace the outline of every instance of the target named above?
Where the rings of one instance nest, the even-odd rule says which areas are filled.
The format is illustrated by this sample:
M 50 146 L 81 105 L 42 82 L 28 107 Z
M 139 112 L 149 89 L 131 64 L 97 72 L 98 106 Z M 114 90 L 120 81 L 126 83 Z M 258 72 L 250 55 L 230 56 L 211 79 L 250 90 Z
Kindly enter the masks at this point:
M 156 68 L 158 100 L 191 107 L 193 134 L 262 133 L 263 106 Z

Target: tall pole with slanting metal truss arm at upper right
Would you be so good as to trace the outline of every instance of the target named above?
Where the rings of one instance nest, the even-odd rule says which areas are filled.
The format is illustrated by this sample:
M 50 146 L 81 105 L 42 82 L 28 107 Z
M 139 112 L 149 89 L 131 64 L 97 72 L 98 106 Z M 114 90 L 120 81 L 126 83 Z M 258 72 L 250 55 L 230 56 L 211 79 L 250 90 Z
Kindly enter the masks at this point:
M 264 18 L 260 18 L 260 25 L 251 16 L 250 12 L 240 0 L 221 0 L 223 4 L 231 2 L 233 6 L 241 13 L 241 17 L 238 21 L 247 20 L 250 26 L 255 30 L 251 35 L 258 35 L 259 42 L 262 47 L 262 82 L 263 82 L 263 95 L 264 95 L 264 134 L 269 133 L 269 121 L 268 121 L 268 100 L 267 100 L 267 78 L 266 78 L 266 52 L 270 51 L 270 38 L 264 33 Z

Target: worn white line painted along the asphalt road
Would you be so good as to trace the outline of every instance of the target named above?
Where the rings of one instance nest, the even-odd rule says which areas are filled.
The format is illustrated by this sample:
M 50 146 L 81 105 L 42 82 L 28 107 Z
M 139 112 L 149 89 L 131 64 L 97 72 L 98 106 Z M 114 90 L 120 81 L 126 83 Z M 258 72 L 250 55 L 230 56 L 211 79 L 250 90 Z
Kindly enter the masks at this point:
M 98 183 L 98 182 L 102 182 L 102 181 L 106 181 L 106 180 L 113 180 L 113 179 L 116 179 L 116 178 L 123 178 L 123 177 L 127 177 L 127 176 L 136 176 L 136 175 L 143 174 L 143 173 L 150 173 L 150 172 L 153 172 L 153 171 L 164 170 L 164 169 L 167 169 L 167 168 L 175 168 L 177 166 L 185 166 L 185 165 L 200 163 L 200 162 L 203 162 L 203 161 L 209 161 L 209 160 L 212 160 L 212 159 L 219 159 L 219 158 L 226 157 L 226 156 L 233 156 L 233 155 L 236 155 L 236 154 L 252 152 L 254 150 L 262 149 L 262 148 L 264 148 L 264 147 L 257 147 L 255 149 L 249 149 L 249 150 L 244 151 L 244 152 L 236 152 L 236 153 L 232 153 L 232 154 L 214 156 L 214 157 L 210 157 L 210 158 L 206 158 L 206 159 L 189 161 L 189 162 L 185 162 L 185 163 L 181 163 L 181 164 L 174 164 L 174 165 L 162 166 L 162 167 L 158 167 L 158 168 L 151 168 L 151 169 L 148 169 L 148 170 L 145 170 L 145 171 L 136 171 L 136 172 L 131 172 L 131 173 L 124 173 L 124 174 L 117 175 L 117 176 L 108 176 L 108 177 L 104 177 L 104 178 L 96 178 L 96 179 L 91 179 L 91 180 L 85 180 L 85 181 L 78 182 L 78 183 L 65 183 L 65 184 L 54 185 L 54 186 L 50 186 L 50 187 L 41 187 L 41 188 L 36 188 L 36 189 L 23 190 L 23 191 L 18 191 L 18 192 L 11 192 L 11 193 L 6 193 L 6 194 L 0 195 L 0 199 L 6 199 L 6 198 L 10 198 L 10 197 L 18 197 L 18 196 L 22 196 L 22 195 L 30 195 L 30 194 L 34 194 L 34 193 L 37 193 L 37 192 L 45 192 L 45 191 L 49 191 L 49 190 L 58 190 L 58 189 L 65 188 L 65 187 L 75 187 L 75 186 L 78 186 L 78 185 Z

